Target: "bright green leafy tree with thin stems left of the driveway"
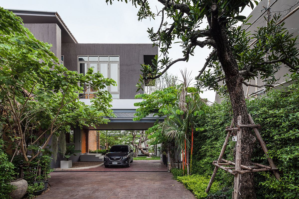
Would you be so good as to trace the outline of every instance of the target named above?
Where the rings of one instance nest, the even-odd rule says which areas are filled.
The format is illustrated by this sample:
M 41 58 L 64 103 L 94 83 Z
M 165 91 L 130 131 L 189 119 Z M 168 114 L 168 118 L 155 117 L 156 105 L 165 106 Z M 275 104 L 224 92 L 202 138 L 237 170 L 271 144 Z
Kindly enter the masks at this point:
M 103 89 L 114 80 L 92 69 L 84 76 L 57 64 L 51 45 L 34 38 L 21 18 L 1 7 L 0 35 L 0 135 L 19 146 L 25 164 L 46 153 L 54 133 L 70 125 L 108 122 L 109 92 L 98 91 L 92 106 L 80 102 L 77 93 L 84 92 L 83 85 Z

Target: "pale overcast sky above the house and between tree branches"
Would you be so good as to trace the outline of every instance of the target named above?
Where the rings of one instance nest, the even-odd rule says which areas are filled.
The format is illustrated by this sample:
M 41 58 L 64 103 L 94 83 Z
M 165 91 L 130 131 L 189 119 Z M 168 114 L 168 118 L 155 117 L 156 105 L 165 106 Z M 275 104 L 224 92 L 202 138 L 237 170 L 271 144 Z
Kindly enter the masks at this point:
M 148 38 L 147 28 L 154 27 L 154 30 L 157 30 L 161 23 L 160 18 L 138 21 L 136 15 L 138 9 L 130 3 L 118 1 L 114 1 L 112 5 L 107 5 L 105 0 L 0 0 L 0 2 L 0 6 L 7 9 L 58 12 L 79 43 L 152 43 Z M 153 11 L 156 10 L 156 6 L 158 10 L 161 8 L 158 1 L 149 2 Z M 250 13 L 251 9 L 246 7 L 242 15 L 248 16 Z M 173 59 L 183 57 L 178 44 L 169 52 L 169 56 Z M 197 47 L 195 56 L 191 56 L 187 63 L 178 62 L 168 71 L 180 77 L 180 70 L 187 68 L 194 78 L 210 52 L 208 48 Z M 202 97 L 214 101 L 215 92 L 206 91 Z

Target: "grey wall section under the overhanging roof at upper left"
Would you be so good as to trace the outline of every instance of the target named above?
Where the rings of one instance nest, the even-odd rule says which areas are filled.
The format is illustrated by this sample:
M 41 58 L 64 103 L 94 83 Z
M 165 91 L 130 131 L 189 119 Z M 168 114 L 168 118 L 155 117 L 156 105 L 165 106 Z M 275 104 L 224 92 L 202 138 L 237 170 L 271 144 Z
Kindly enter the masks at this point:
M 52 44 L 51 51 L 61 60 L 61 30 L 57 24 L 24 24 L 40 41 Z

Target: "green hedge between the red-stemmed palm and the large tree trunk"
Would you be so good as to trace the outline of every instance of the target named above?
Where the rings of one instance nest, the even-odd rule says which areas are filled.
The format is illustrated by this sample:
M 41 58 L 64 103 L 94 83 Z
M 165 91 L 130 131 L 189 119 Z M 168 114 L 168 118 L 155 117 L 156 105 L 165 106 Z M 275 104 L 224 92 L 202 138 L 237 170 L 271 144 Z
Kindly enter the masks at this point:
M 225 127 L 230 126 L 231 107 L 227 100 L 222 104 L 213 104 L 206 109 L 205 115 L 196 119 L 198 125 L 202 124 L 203 129 L 194 132 L 193 165 L 192 173 L 211 176 L 215 166 L 212 164 L 217 160 L 222 149 L 223 141 L 227 135 Z M 233 149 L 235 142 L 229 141 L 224 159 L 233 160 Z M 216 179 L 225 182 L 228 186 L 233 182 L 231 176 L 219 169 Z

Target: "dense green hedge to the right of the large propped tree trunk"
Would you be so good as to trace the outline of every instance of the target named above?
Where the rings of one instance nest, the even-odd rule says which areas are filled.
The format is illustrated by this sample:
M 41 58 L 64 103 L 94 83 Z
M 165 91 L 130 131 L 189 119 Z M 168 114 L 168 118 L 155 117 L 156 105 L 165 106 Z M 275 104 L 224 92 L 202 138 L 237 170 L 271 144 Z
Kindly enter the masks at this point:
M 248 109 L 269 149 L 269 155 L 281 170 L 277 181 L 269 173 L 261 173 L 258 193 L 267 199 L 299 198 L 299 84 L 248 103 Z M 265 155 L 256 146 L 254 162 L 268 164 Z

